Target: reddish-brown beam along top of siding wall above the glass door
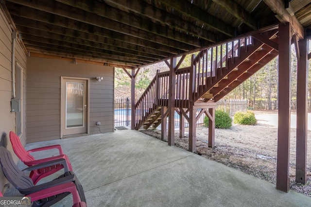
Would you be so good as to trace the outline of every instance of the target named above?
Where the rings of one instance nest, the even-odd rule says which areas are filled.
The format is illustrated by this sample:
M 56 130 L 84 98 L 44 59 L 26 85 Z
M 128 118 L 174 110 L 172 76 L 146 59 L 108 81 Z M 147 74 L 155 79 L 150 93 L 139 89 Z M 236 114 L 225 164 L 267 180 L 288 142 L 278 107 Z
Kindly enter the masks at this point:
M 43 53 L 37 53 L 37 52 L 30 52 L 31 57 L 42 57 L 42 58 L 49 58 L 49 59 L 56 59 L 56 60 L 65 60 L 65 61 L 72 61 L 72 57 L 65 57 L 65 56 L 56 56 L 52 54 L 43 54 Z M 108 67 L 116 67 L 116 68 L 125 68 L 125 69 L 133 69 L 133 66 L 128 66 L 124 63 L 120 64 L 114 64 L 114 63 L 107 63 L 103 60 L 93 60 L 89 58 L 83 57 L 82 59 L 78 59 L 74 57 L 77 61 L 77 63 L 86 63 L 86 64 L 92 64 L 92 65 L 99 65 L 99 66 L 108 66 Z

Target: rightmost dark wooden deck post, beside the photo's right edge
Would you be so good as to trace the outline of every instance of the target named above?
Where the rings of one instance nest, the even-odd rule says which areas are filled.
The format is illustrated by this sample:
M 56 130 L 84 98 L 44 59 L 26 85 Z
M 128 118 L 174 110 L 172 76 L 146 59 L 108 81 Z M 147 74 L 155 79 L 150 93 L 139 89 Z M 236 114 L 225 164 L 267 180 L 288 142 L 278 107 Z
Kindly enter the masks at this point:
M 302 184 L 307 183 L 308 42 L 307 39 L 298 41 L 297 48 L 296 182 Z

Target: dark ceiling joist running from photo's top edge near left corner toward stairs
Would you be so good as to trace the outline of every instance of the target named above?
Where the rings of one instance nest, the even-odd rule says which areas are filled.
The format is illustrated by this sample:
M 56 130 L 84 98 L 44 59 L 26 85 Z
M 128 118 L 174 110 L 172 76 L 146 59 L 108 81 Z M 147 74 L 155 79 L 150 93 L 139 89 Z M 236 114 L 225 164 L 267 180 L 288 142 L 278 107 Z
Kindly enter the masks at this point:
M 190 35 L 182 34 L 175 30 L 169 29 L 168 27 L 162 27 L 159 24 L 152 23 L 151 21 L 145 20 L 143 18 L 135 17 L 129 13 L 122 12 L 121 10 L 115 9 L 113 7 L 104 6 L 105 4 L 103 3 L 101 4 L 103 5 L 101 6 L 101 11 L 98 11 L 98 13 L 100 13 L 102 16 L 99 16 L 97 14 L 88 12 L 93 10 L 96 11 L 96 8 L 90 8 L 90 4 L 87 1 L 80 1 L 82 3 L 81 8 L 84 8 L 85 10 L 59 3 L 54 0 L 36 2 L 33 2 L 32 0 L 8 1 L 54 14 L 56 15 L 54 18 L 57 18 L 57 16 L 66 17 L 79 22 L 84 22 L 86 24 L 91 24 L 115 32 L 120 32 L 125 35 L 132 35 L 158 43 L 161 41 L 166 41 L 167 45 L 174 45 L 177 44 L 177 42 L 179 42 L 179 44 L 182 42 L 185 45 L 192 45 L 195 47 L 202 46 L 202 41 L 198 38 L 193 38 Z

